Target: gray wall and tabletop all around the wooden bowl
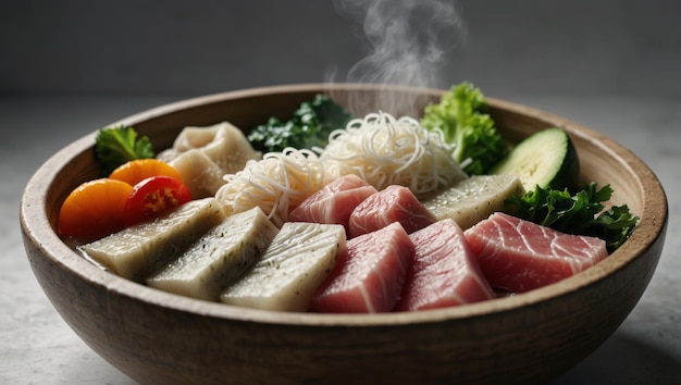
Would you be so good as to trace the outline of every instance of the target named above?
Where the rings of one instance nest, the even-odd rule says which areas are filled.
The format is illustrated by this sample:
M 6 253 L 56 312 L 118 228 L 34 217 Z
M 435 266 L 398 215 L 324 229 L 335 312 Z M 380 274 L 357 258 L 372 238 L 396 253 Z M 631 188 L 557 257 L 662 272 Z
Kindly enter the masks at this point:
M 681 1 L 457 5 L 462 25 L 439 36 L 446 65 L 422 73 L 430 85 L 467 79 L 592 127 L 641 157 L 669 195 L 667 243 L 646 293 L 556 384 L 681 383 Z M 433 25 L 414 23 L 419 34 Z M 183 98 L 344 80 L 368 52 L 360 18 L 332 1 L 0 0 L 0 383 L 132 383 L 60 319 L 26 261 L 20 197 L 48 157 Z

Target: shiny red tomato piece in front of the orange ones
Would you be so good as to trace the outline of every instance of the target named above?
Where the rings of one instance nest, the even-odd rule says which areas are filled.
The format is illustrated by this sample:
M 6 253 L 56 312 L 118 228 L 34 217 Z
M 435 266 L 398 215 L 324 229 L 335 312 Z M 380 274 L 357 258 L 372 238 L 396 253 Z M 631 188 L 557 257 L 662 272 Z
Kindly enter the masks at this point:
M 157 218 L 165 211 L 191 200 L 191 194 L 182 181 L 171 176 L 151 176 L 133 187 L 125 204 L 125 224 Z

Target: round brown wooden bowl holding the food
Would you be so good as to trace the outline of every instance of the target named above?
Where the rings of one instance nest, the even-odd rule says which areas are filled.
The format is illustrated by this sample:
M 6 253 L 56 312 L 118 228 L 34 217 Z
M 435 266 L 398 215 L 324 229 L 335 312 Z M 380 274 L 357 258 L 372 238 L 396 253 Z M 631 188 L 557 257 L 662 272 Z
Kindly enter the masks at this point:
M 357 114 L 385 95 L 418 109 L 442 90 L 371 85 L 280 86 L 218 94 L 146 111 L 133 125 L 157 149 L 184 126 L 230 121 L 251 127 L 287 117 L 327 92 Z M 518 140 L 567 129 L 584 182 L 610 184 L 614 204 L 641 218 L 631 238 L 597 265 L 541 289 L 442 310 L 332 315 L 272 312 L 189 299 L 121 278 L 89 263 L 57 235 L 61 202 L 97 176 L 95 133 L 49 159 L 28 182 L 21 224 L 30 265 L 69 325 L 101 357 L 144 384 L 536 383 L 578 363 L 620 325 L 659 259 L 667 200 L 654 173 L 603 135 L 561 117 L 490 98 L 503 135 Z M 395 114 L 399 112 L 393 112 Z

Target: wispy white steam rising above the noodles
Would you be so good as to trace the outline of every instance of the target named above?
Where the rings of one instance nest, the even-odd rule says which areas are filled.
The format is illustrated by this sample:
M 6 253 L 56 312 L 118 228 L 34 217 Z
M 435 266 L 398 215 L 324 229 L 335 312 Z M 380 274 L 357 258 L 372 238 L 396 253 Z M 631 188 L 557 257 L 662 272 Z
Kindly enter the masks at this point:
M 347 83 L 437 87 L 448 51 L 465 35 L 454 1 L 336 0 L 334 4 L 339 14 L 362 23 L 369 50 L 350 69 Z M 413 96 L 383 94 L 383 111 L 410 114 L 417 109 Z M 366 99 L 352 97 L 350 109 L 366 110 Z

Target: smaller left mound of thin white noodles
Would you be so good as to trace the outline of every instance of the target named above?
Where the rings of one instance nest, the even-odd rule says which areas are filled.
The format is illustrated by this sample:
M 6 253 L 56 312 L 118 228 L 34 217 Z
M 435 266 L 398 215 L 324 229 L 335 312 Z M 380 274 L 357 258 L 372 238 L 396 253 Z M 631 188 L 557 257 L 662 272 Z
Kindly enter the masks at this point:
M 281 227 L 289 209 L 322 188 L 324 170 L 314 152 L 286 148 L 282 152 L 268 152 L 261 160 L 250 160 L 244 170 L 224 178 L 226 184 L 215 198 L 225 214 L 258 206 Z

